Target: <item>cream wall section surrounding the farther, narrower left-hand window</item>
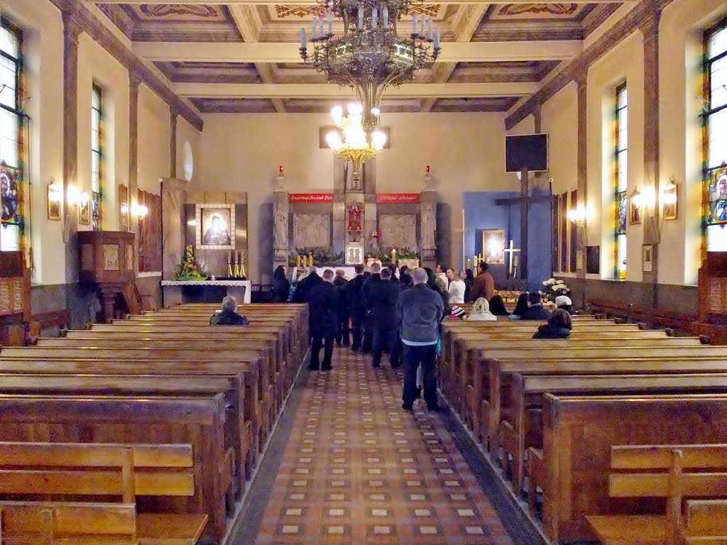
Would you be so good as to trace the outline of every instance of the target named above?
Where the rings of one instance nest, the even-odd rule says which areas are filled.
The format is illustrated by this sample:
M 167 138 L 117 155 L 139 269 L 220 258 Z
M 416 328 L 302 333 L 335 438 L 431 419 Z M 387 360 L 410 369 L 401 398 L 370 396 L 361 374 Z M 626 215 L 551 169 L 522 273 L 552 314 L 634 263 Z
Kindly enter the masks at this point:
M 103 219 L 105 230 L 119 229 L 120 183 L 129 178 L 129 73 L 87 34 L 79 37 L 79 179 L 91 194 L 92 85 L 101 87 L 103 111 Z M 91 225 L 79 225 L 90 230 Z

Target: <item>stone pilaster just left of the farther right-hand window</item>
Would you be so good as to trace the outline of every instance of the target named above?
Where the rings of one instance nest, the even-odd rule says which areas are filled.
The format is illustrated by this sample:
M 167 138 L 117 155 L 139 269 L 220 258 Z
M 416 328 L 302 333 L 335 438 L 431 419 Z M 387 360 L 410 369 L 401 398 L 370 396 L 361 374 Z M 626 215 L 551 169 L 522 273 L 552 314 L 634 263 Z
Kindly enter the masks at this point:
M 587 210 L 588 201 L 588 147 L 587 147 L 587 135 L 588 135 L 588 72 L 587 70 L 582 71 L 576 78 L 577 84 L 577 134 L 578 134 L 578 149 L 577 149 L 577 189 L 578 189 L 578 206 L 582 206 L 584 210 Z M 588 297 L 587 297 L 587 284 L 586 278 L 586 246 L 587 246 L 587 230 L 588 230 L 588 214 L 582 224 L 574 225 L 577 229 L 576 247 L 571 248 L 571 251 L 576 252 L 576 276 L 583 284 L 582 289 L 582 300 L 580 301 L 581 307 L 585 309 Z

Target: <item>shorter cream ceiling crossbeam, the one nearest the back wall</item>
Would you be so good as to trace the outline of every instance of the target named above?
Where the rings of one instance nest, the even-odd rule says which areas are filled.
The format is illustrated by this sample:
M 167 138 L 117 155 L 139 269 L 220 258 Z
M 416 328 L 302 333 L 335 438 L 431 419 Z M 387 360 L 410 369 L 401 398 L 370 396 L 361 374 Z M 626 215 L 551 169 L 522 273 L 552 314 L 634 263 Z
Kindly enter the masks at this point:
M 387 89 L 389 98 L 522 97 L 537 92 L 532 82 L 491 84 L 404 84 Z M 353 89 L 334 84 L 174 84 L 174 92 L 196 98 L 333 98 L 355 96 Z

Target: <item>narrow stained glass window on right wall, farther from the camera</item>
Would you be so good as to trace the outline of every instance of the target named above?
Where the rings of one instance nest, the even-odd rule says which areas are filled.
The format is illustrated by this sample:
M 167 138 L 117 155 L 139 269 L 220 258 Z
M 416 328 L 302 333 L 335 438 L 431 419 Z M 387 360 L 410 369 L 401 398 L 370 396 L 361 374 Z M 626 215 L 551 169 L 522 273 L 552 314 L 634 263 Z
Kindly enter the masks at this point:
M 626 218 L 628 198 L 628 94 L 626 84 L 616 87 L 614 119 L 614 203 L 616 209 L 614 240 L 614 278 L 626 279 Z

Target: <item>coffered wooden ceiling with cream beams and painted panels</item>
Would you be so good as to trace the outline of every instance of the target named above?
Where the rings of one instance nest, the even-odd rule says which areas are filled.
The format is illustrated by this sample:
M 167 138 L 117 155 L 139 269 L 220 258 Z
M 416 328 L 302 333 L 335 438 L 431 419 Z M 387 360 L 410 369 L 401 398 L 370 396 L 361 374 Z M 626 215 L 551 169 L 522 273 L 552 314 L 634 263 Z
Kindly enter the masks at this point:
M 201 113 L 322 112 L 353 93 L 300 62 L 300 28 L 316 0 L 87 0 Z M 454 0 L 411 10 L 435 20 L 442 55 L 412 84 L 387 89 L 383 112 L 507 111 L 583 50 L 583 40 L 635 0 L 536 3 Z M 342 31 L 334 23 L 334 32 Z

